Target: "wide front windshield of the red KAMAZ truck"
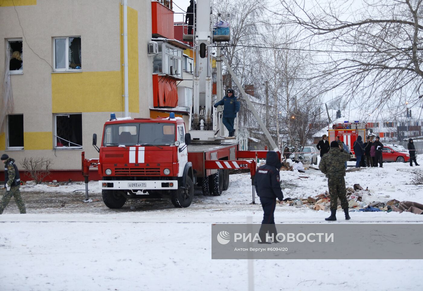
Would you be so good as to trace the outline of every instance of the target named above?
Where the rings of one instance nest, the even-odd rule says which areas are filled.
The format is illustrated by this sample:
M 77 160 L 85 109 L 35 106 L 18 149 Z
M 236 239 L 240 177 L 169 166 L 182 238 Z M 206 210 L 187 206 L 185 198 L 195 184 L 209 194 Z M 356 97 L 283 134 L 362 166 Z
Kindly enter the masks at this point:
M 104 129 L 103 146 L 165 146 L 174 143 L 174 124 L 110 124 Z

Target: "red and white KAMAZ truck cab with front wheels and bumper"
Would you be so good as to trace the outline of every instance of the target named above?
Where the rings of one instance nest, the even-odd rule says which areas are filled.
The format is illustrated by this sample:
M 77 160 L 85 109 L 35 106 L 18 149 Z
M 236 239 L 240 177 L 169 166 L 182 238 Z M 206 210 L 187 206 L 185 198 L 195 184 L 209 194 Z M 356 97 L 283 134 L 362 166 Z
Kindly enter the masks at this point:
M 188 207 L 194 173 L 188 162 L 190 134 L 182 118 L 111 118 L 99 147 L 99 187 L 109 208 L 128 198 L 170 198 Z M 93 136 L 96 145 L 96 135 Z

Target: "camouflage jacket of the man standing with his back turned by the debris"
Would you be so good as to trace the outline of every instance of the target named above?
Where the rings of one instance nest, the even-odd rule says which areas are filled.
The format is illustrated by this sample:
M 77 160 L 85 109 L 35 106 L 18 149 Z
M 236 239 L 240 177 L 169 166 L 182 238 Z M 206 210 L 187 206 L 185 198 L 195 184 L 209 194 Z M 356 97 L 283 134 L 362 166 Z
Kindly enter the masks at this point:
M 349 161 L 351 156 L 341 152 L 339 148 L 331 148 L 330 151 L 321 157 L 319 169 L 326 177 L 345 176 L 344 163 Z

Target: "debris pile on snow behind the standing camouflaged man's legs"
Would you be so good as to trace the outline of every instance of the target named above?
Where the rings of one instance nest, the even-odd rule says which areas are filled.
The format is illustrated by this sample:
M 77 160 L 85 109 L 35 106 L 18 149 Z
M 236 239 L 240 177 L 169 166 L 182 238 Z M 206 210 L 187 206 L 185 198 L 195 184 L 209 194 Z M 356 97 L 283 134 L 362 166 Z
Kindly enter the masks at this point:
M 389 195 L 379 193 L 373 195 L 368 189 L 363 189 L 360 184 L 346 188 L 346 198 L 348 208 L 352 211 L 408 211 L 415 214 L 423 214 L 423 205 L 410 201 L 398 201 Z M 330 194 L 328 191 L 316 196 L 298 196 L 294 198 L 285 198 L 279 201 L 280 206 L 308 207 L 313 210 L 329 210 Z M 338 199 L 338 209 L 341 208 L 341 201 Z

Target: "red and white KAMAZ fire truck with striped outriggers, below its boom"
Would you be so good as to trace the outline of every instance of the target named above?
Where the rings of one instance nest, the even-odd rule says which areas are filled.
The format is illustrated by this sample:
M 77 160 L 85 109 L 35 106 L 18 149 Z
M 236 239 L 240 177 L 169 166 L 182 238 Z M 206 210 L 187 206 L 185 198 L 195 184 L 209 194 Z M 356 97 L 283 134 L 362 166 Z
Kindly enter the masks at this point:
M 221 195 L 229 187 L 229 169 L 250 169 L 266 151 L 239 151 L 237 143 L 191 145 L 182 118 L 111 118 L 104 124 L 101 145 L 93 135 L 99 159 L 85 159 L 82 175 L 88 183 L 90 167 L 98 167 L 99 187 L 109 208 L 121 208 L 127 199 L 170 198 L 176 207 L 188 207 L 194 185 L 204 195 Z M 251 159 L 251 160 L 239 160 Z M 253 180 L 252 180 L 253 181 Z

